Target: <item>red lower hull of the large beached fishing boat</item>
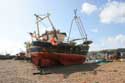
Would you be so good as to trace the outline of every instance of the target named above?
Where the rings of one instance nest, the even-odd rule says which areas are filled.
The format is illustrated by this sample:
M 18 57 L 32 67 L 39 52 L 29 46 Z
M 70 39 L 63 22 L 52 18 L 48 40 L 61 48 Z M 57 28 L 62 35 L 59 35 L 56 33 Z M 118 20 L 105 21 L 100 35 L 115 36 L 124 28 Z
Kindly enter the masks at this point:
M 32 62 L 37 66 L 53 66 L 57 64 L 72 65 L 83 64 L 85 56 L 78 54 L 65 54 L 65 53 L 43 53 L 34 52 L 31 54 Z

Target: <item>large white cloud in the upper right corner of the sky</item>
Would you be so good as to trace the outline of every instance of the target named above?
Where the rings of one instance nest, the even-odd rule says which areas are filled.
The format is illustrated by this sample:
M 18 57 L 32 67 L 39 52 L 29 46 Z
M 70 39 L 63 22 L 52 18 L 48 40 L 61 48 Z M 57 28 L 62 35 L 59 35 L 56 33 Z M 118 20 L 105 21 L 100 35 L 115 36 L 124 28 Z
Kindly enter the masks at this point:
M 99 17 L 102 23 L 125 23 L 125 3 L 108 2 L 102 9 Z

